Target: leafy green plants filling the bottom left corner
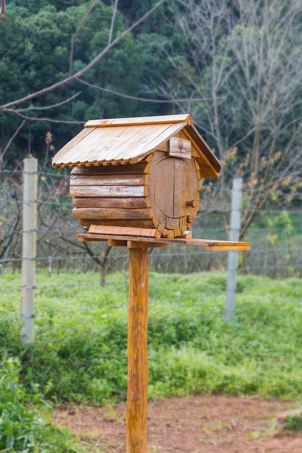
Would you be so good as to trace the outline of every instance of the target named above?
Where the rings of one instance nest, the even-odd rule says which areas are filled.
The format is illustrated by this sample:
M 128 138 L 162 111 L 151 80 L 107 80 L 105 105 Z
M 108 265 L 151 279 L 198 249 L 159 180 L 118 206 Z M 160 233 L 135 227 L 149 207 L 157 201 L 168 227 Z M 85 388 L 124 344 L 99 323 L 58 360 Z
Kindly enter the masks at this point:
M 68 431 L 58 429 L 46 415 L 50 406 L 37 393 L 29 395 L 19 381 L 18 359 L 3 359 L 0 374 L 0 450 L 9 453 L 46 453 L 76 450 L 67 439 Z

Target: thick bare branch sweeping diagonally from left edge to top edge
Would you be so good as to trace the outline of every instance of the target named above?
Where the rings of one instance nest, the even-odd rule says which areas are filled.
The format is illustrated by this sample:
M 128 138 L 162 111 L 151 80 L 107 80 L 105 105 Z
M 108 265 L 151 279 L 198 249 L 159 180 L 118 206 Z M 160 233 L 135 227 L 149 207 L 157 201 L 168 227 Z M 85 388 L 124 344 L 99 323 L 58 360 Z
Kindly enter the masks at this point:
M 36 91 L 35 93 L 31 93 L 24 98 L 16 99 L 15 101 L 8 102 L 7 104 L 3 104 L 0 106 L 0 110 L 6 110 L 15 105 L 21 104 L 26 101 L 30 101 L 38 96 L 50 93 L 57 88 L 63 87 L 64 85 L 68 84 L 72 80 L 78 79 L 81 75 L 85 74 L 89 69 L 91 69 L 112 47 L 118 44 L 128 33 L 130 33 L 134 28 L 138 27 L 147 17 L 149 17 L 157 8 L 159 8 L 166 0 L 160 0 L 153 8 L 151 8 L 146 14 L 144 14 L 140 19 L 138 19 L 134 24 L 127 28 L 123 33 L 121 33 L 117 38 L 115 38 L 110 44 L 108 44 L 90 63 L 88 63 L 85 67 L 81 70 L 76 72 L 73 75 L 68 75 L 66 79 L 61 80 L 53 85 L 50 85 L 47 88 L 43 88 L 42 90 Z

